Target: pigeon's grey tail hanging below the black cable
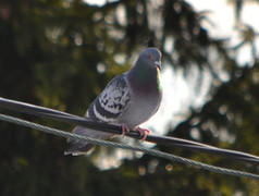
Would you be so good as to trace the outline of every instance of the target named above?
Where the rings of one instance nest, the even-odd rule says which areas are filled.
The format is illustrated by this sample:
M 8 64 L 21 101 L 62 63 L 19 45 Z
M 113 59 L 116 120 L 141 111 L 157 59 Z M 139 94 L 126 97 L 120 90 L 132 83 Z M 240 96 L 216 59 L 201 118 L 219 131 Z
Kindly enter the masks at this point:
M 83 135 L 86 137 L 97 138 L 97 139 L 104 139 L 104 138 L 109 138 L 113 136 L 112 134 L 94 131 L 83 126 L 76 126 L 73 130 L 73 133 L 77 135 Z M 70 147 L 66 151 L 64 151 L 64 155 L 73 155 L 73 156 L 84 155 L 84 154 L 87 154 L 94 147 L 92 144 L 89 144 L 83 140 L 77 140 L 77 139 L 69 138 L 67 143 L 70 144 Z

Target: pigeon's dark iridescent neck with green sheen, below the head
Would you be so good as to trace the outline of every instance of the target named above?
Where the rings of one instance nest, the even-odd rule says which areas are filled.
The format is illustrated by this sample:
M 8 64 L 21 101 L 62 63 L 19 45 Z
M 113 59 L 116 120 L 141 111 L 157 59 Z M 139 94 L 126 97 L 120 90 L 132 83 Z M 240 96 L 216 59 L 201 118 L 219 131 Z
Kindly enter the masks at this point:
M 161 90 L 159 69 L 138 64 L 128 72 L 127 81 L 133 86 L 133 89 L 144 93 Z

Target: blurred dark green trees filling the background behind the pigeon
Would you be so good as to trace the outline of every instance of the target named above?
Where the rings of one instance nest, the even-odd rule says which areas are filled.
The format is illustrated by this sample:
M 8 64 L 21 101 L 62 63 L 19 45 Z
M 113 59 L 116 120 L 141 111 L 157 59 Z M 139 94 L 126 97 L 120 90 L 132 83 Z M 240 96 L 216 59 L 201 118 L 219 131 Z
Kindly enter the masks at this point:
M 233 2 L 239 13 L 244 2 Z M 255 52 L 258 34 L 242 24 L 237 28 L 242 42 L 227 48 L 224 40 L 209 37 L 201 26 L 201 21 L 208 20 L 206 14 L 180 0 L 121 0 L 102 7 L 82 0 L 1 0 L 0 96 L 83 114 L 107 82 L 130 68 L 140 49 L 156 46 L 162 50 L 163 61 L 175 70 L 185 70 L 186 77 L 192 74 L 190 68 L 197 66 L 200 75 L 209 70 L 213 81 L 208 101 L 201 108 L 190 108 L 169 135 L 259 155 L 259 66 Z M 239 14 L 236 15 L 238 22 Z M 239 64 L 235 54 L 244 45 L 251 47 L 254 59 Z M 227 79 L 222 79 L 222 72 Z M 196 90 L 199 94 L 200 88 Z M 3 122 L 0 135 L 3 196 L 259 192 L 254 181 L 186 169 L 150 156 L 99 171 L 90 161 L 98 150 L 89 158 L 64 157 L 64 139 Z M 256 167 L 203 154 L 158 148 L 211 164 L 258 171 Z

